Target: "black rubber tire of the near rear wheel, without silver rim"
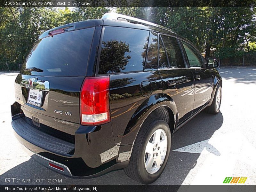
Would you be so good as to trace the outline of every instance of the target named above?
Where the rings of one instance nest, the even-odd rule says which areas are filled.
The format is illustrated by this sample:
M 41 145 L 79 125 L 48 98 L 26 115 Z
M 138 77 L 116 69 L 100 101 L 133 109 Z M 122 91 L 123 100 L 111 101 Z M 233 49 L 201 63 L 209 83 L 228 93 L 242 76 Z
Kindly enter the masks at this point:
M 164 158 L 164 161 L 159 170 L 153 174 L 150 174 L 146 168 L 145 168 L 145 149 L 146 145 L 148 143 L 148 140 L 151 138 L 152 134 L 158 130 L 162 129 L 166 133 L 167 137 L 167 149 L 166 149 L 166 155 Z M 170 154 L 171 149 L 171 132 L 169 125 L 162 119 L 150 119 L 147 122 L 145 122 L 135 140 L 133 150 L 132 150 L 132 156 L 130 159 L 129 165 L 124 169 L 124 172 L 133 180 L 136 180 L 142 184 L 150 184 L 157 180 L 162 172 L 164 171 L 164 168 L 166 166 L 166 163 L 168 161 L 168 157 Z

